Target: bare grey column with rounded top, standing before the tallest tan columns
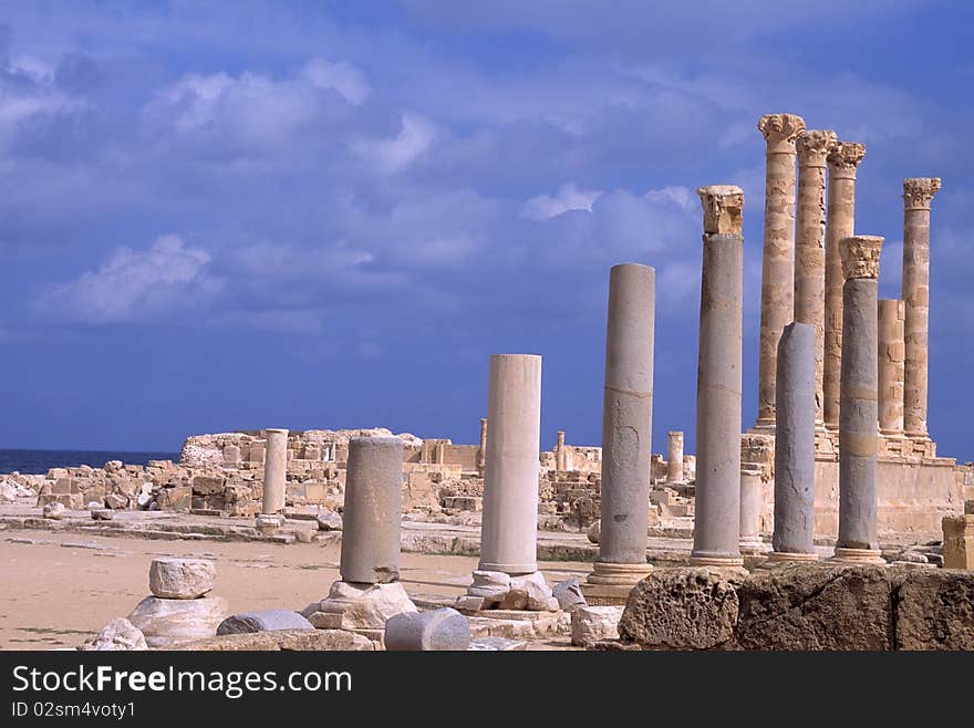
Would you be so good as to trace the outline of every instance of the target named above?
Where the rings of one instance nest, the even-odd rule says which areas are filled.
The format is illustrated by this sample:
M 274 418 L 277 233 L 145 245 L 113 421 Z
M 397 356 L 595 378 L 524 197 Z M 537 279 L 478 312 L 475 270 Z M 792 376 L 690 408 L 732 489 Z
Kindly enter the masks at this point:
M 775 389 L 775 532 L 773 561 L 814 561 L 817 334 L 810 323 L 785 326 Z

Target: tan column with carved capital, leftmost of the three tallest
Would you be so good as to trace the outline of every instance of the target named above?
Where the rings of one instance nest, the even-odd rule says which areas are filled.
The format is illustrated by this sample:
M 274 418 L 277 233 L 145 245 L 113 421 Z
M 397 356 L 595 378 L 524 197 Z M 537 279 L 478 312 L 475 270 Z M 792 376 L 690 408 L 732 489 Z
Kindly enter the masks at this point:
M 805 119 L 766 114 L 757 127 L 767 142 L 765 237 L 756 428 L 775 426 L 775 354 L 795 313 L 795 139 Z

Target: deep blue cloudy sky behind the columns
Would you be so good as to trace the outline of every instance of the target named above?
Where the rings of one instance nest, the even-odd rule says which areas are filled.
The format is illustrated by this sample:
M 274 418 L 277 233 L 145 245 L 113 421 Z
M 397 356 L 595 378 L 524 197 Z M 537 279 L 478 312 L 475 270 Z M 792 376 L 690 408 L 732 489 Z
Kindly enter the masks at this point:
M 934 201 L 930 427 L 974 459 L 970 3 L 0 3 L 0 447 L 386 426 L 475 443 L 490 353 L 542 354 L 542 445 L 601 439 L 609 268 L 656 269 L 654 449 L 693 449 L 700 185 L 763 113 L 868 147 L 897 298 Z

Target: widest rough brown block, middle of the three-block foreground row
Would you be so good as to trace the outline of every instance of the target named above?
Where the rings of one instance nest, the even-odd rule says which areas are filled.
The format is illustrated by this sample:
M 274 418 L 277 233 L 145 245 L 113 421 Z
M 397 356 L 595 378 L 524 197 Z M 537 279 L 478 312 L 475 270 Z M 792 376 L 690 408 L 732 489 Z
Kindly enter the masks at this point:
M 892 649 L 885 566 L 783 564 L 738 589 L 745 649 Z

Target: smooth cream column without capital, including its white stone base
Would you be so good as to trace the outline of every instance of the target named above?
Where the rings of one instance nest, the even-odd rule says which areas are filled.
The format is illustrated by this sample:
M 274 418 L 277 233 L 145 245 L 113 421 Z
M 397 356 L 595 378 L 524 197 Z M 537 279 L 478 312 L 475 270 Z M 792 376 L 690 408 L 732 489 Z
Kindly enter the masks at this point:
M 538 571 L 541 357 L 493 354 L 487 387 L 490 437 L 484 474 L 480 562 L 460 609 L 547 610 L 558 601 Z M 483 602 L 481 602 L 483 600 Z

